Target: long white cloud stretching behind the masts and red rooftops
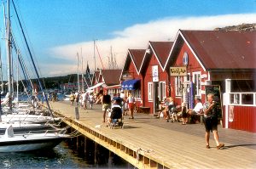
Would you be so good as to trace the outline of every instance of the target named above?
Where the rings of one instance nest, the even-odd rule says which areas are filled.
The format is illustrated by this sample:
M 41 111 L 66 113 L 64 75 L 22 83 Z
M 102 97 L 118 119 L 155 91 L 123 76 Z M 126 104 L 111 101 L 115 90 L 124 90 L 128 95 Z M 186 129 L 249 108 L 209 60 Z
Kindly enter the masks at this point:
M 182 30 L 213 30 L 217 27 L 227 25 L 240 25 L 242 23 L 255 23 L 256 14 L 226 14 L 216 16 L 201 16 L 187 18 L 164 18 L 162 20 L 151 20 L 145 24 L 131 25 L 125 30 L 114 31 L 112 39 L 96 41 L 99 53 L 102 56 L 103 65 L 108 68 L 108 56 L 110 47 L 113 48 L 113 56 L 117 59 L 119 69 L 122 69 L 128 48 L 147 48 L 148 41 L 174 41 L 178 29 Z M 51 48 L 50 52 L 55 57 L 76 60 L 76 54 L 81 51 L 85 63 L 88 61 L 90 69 L 94 69 L 93 42 L 78 42 L 65 46 Z M 69 72 L 75 72 L 73 65 Z M 101 61 L 96 51 L 96 67 L 102 68 Z M 84 65 L 85 68 L 85 65 Z M 53 68 L 50 68 L 53 69 Z M 56 69 L 56 67 L 55 67 Z M 67 72 L 65 66 L 61 66 L 59 72 Z M 53 71 L 58 73 L 57 71 Z M 68 73 L 68 72 L 67 72 Z

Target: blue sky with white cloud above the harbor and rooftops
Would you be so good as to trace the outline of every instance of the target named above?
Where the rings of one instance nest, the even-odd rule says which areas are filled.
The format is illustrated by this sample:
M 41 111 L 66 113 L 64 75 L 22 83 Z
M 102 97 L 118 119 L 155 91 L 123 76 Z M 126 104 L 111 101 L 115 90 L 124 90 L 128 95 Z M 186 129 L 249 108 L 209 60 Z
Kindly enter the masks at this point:
M 178 29 L 256 23 L 256 0 L 14 1 L 42 76 L 74 73 L 77 53 L 93 69 L 95 39 L 105 67 L 112 47 L 122 69 L 128 48 L 146 48 L 148 41 L 173 41 Z M 16 21 L 12 25 L 16 29 Z M 96 63 L 101 68 L 98 56 Z

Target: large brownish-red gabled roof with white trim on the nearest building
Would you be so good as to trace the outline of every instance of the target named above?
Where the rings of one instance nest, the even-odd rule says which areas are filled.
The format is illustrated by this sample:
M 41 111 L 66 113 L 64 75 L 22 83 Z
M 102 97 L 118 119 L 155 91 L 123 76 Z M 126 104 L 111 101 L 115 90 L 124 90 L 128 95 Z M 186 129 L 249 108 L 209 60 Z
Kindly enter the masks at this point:
M 256 69 L 256 31 L 178 31 L 168 61 L 183 42 L 204 70 Z

